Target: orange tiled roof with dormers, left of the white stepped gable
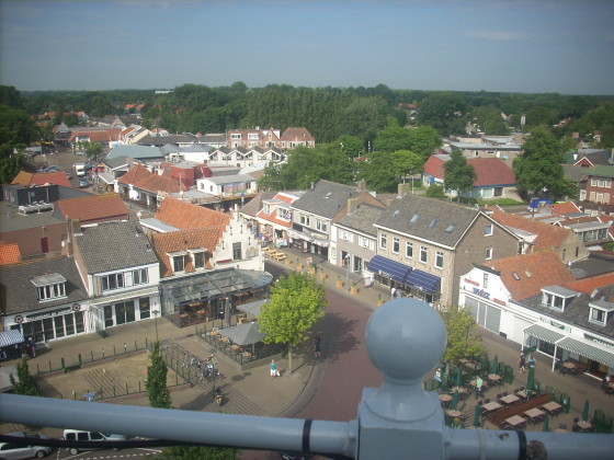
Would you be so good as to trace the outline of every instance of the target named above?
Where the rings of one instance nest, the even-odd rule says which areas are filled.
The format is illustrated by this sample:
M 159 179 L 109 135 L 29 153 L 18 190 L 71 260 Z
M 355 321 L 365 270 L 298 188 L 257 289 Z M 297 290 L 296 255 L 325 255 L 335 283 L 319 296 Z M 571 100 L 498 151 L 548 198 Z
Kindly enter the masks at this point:
M 209 257 L 219 242 L 220 237 L 221 234 L 219 229 L 216 227 L 180 230 L 169 233 L 152 233 L 151 244 L 154 245 L 154 250 L 160 260 L 162 277 L 173 275 L 171 258 L 168 254 L 178 251 L 204 248 L 207 253 L 207 256 L 205 257 L 207 265 L 206 268 L 212 268 Z M 192 257 L 187 257 L 185 272 L 194 272 Z

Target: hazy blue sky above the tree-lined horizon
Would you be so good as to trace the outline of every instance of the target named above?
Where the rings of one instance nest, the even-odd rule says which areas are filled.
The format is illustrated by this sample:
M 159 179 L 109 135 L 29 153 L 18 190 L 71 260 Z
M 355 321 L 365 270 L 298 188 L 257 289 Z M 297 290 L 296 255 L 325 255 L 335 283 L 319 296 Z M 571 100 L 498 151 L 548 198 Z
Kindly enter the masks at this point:
M 614 94 L 614 1 L 0 0 L 20 91 L 250 88 Z

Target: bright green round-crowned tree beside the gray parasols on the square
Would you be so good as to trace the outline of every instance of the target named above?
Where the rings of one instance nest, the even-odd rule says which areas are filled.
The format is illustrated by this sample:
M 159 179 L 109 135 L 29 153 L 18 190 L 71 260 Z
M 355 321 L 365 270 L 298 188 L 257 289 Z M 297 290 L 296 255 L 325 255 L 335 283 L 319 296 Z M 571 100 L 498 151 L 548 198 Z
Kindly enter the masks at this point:
M 326 306 L 325 288 L 312 276 L 291 273 L 271 286 L 258 323 L 264 343 L 288 345 L 289 372 L 293 348 L 308 338 L 307 331 L 323 317 Z

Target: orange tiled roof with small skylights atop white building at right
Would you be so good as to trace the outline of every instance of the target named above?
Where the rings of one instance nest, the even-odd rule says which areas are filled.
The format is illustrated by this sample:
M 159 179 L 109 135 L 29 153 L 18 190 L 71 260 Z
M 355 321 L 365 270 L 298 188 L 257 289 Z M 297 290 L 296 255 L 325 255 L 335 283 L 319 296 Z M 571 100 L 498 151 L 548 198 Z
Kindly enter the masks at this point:
M 573 276 L 554 251 L 498 258 L 485 265 L 499 272 L 514 300 L 535 296 L 546 286 L 573 281 Z

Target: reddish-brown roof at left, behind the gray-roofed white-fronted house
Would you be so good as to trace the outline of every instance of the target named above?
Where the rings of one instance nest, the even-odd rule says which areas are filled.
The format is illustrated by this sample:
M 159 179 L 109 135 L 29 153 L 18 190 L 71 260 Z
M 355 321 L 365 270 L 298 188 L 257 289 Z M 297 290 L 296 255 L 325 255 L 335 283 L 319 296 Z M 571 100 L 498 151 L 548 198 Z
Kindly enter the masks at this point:
M 56 202 L 56 209 L 65 219 L 79 219 L 81 225 L 128 220 L 128 209 L 124 200 L 114 193 L 60 199 Z

